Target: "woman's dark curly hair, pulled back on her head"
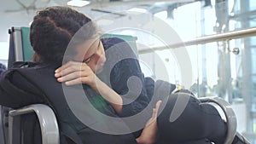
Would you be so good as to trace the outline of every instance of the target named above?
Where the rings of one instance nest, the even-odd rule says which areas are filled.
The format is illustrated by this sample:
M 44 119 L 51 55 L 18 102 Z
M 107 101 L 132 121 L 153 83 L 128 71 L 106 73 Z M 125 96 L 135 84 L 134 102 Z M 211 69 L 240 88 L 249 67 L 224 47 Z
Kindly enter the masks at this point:
M 44 63 L 61 65 L 68 44 L 82 43 L 97 32 L 96 24 L 78 11 L 54 6 L 38 11 L 30 28 L 32 48 Z M 73 49 L 74 55 L 75 51 Z

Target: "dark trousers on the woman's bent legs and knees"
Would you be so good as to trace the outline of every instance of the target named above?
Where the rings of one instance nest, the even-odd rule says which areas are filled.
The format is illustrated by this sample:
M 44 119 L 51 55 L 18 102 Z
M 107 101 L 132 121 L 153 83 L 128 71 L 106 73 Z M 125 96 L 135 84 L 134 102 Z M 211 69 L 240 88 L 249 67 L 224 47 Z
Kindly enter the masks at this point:
M 201 103 L 195 96 L 183 92 L 172 94 L 162 101 L 160 109 L 164 109 L 158 117 L 159 142 L 157 143 L 183 144 L 206 139 L 215 144 L 224 143 L 227 128 L 215 107 Z M 165 104 L 166 106 L 163 107 Z M 173 107 L 183 105 L 185 106 L 179 117 L 170 122 Z

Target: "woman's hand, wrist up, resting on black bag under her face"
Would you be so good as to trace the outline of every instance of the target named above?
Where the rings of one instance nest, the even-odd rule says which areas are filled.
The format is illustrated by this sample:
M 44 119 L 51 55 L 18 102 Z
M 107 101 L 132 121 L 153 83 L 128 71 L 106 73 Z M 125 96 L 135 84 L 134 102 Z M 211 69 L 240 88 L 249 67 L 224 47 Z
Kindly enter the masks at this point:
M 99 80 L 96 74 L 90 69 L 90 66 L 84 62 L 69 61 L 67 64 L 55 70 L 55 78 L 58 82 L 67 85 L 88 84 L 96 89 L 96 81 Z

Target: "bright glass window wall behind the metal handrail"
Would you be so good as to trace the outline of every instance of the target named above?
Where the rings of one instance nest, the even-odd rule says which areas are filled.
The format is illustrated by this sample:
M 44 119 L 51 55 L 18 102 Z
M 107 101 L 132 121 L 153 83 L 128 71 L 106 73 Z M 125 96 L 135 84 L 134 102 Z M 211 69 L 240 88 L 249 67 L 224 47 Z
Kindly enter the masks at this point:
M 204 1 L 184 4 L 172 9 L 172 16 L 165 9 L 152 17 L 172 27 L 181 42 L 256 26 L 256 4 L 253 0 L 211 2 L 212 5 L 207 6 Z M 160 29 L 154 27 L 150 31 L 153 34 Z M 154 48 L 151 51 L 141 50 L 138 45 L 139 58 L 150 69 L 144 70 L 149 72 L 149 76 L 183 86 L 182 66 L 177 55 L 168 48 L 168 43 L 161 43 L 157 37 L 152 37 L 152 33 L 132 29 L 115 33 L 130 33 L 138 37 L 137 43 L 147 45 L 148 49 Z M 256 60 L 256 37 L 195 44 L 178 49 L 185 49 L 188 55 L 184 54 L 183 58 L 188 56 L 192 67 L 189 72 L 193 80 L 189 89 L 199 97 L 221 96 L 229 101 L 236 111 L 238 131 L 256 143 L 256 65 L 253 63 Z

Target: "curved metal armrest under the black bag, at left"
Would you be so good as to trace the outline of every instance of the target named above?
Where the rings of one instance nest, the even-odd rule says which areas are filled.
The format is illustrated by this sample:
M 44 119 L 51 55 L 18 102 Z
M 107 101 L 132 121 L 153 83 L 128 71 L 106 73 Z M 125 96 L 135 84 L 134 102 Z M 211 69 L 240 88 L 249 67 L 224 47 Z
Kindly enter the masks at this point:
M 29 112 L 36 112 L 38 116 L 38 120 L 41 127 L 42 133 L 42 143 L 43 144 L 59 144 L 60 143 L 60 135 L 59 128 L 57 124 L 57 120 L 55 118 L 55 113 L 53 110 L 43 104 L 34 104 L 29 105 L 27 107 L 22 107 L 16 110 L 12 110 L 9 112 L 9 143 L 17 144 L 17 140 L 15 138 L 15 126 L 18 127 L 20 124 L 15 121 L 15 117 L 18 117 L 22 114 L 26 114 Z M 20 130 L 20 128 L 18 128 Z M 18 134 L 19 136 L 20 134 Z M 18 140 L 20 143 L 20 140 Z

